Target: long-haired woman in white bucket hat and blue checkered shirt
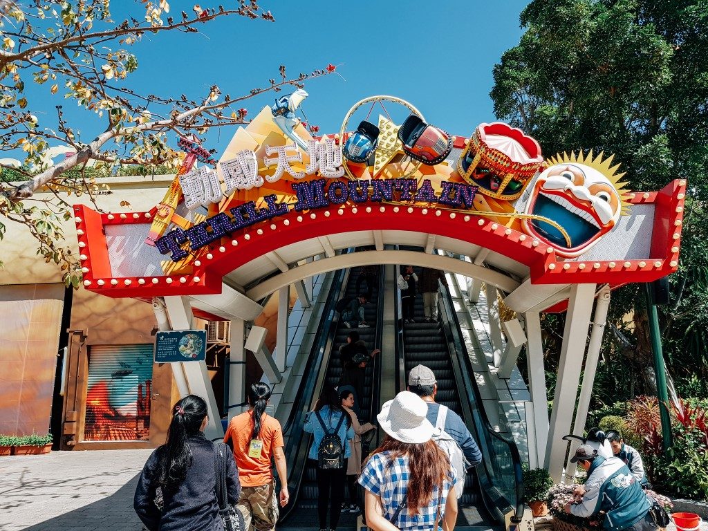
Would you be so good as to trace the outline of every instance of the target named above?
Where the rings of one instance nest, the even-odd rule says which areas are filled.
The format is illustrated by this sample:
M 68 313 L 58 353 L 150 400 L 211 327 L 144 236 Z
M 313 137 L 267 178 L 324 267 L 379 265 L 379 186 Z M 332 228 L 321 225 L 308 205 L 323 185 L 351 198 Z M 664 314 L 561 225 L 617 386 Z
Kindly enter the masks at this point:
M 401 391 L 377 415 L 386 437 L 372 452 L 359 483 L 366 490 L 366 522 L 374 531 L 452 531 L 457 478 L 445 452 L 432 440 L 428 406 Z

